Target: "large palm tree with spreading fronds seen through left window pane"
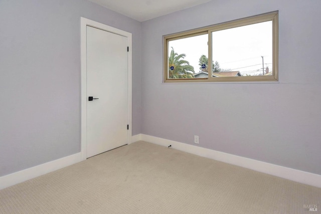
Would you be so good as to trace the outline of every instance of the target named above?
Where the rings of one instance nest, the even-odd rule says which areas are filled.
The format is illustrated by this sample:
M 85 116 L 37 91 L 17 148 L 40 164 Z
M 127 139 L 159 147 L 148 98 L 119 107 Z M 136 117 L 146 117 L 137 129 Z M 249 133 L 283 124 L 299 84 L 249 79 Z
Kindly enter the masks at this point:
M 184 58 L 185 54 L 175 53 L 172 47 L 171 55 L 169 57 L 169 78 L 170 79 L 185 79 L 194 78 L 194 67 Z

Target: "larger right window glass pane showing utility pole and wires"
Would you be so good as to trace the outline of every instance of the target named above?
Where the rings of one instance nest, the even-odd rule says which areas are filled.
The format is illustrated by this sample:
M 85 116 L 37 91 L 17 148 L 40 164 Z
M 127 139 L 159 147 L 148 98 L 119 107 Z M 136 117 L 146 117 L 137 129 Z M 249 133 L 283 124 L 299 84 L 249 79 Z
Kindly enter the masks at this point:
M 272 21 L 212 32 L 213 77 L 272 75 Z

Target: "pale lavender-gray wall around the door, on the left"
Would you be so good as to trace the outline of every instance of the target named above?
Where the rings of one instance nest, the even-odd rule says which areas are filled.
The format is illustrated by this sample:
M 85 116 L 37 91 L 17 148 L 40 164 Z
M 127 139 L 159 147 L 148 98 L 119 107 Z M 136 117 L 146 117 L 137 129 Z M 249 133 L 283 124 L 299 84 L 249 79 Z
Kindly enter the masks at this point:
M 141 23 L 85 0 L 0 0 L 0 176 L 80 152 L 80 17 L 132 33 L 141 132 Z

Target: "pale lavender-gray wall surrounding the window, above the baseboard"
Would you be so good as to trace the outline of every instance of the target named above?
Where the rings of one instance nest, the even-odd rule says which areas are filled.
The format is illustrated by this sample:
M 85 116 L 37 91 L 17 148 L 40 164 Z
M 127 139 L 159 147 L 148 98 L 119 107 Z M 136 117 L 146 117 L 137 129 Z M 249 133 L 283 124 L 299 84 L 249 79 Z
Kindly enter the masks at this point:
M 321 1 L 217 0 L 142 23 L 142 133 L 321 174 Z M 279 83 L 162 84 L 162 36 L 279 11 Z M 195 144 L 194 144 L 195 145 Z

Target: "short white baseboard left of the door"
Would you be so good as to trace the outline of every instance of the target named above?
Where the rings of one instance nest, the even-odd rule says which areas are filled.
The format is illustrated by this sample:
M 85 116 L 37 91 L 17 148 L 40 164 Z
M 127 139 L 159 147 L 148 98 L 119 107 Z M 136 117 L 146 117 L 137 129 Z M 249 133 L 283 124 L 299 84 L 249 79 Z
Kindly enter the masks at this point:
M 81 152 L 0 177 L 0 189 L 78 163 Z

